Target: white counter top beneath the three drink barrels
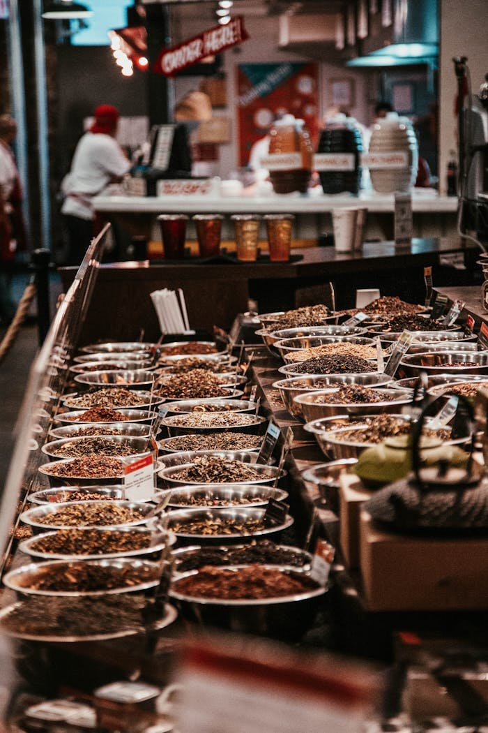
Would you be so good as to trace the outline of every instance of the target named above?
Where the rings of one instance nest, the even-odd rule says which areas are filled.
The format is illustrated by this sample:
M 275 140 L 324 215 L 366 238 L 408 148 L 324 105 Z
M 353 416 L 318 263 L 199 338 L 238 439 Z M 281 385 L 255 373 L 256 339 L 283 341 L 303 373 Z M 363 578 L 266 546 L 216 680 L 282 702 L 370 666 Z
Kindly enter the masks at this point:
M 326 213 L 334 207 L 365 206 L 373 213 L 394 210 L 393 194 L 363 193 L 360 196 L 310 194 L 269 194 L 267 196 L 95 196 L 97 211 L 124 213 Z M 417 188 L 413 191 L 414 212 L 445 212 L 457 210 L 456 196 L 439 196 L 436 191 Z

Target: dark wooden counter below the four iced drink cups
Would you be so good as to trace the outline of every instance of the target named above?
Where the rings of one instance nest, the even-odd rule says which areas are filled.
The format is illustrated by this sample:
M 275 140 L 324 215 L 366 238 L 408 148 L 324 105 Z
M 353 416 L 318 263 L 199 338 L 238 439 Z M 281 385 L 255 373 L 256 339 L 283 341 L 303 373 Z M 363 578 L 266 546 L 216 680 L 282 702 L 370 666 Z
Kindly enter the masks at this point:
M 459 238 L 414 239 L 401 246 L 365 243 L 354 254 L 337 253 L 332 247 L 300 249 L 293 251 L 296 261 L 285 263 L 198 264 L 189 260 L 151 266 L 149 262 L 101 265 L 81 342 L 132 340 L 143 327 L 146 339 L 157 339 L 159 325 L 149 294 L 162 287 L 183 288 L 191 327 L 207 331 L 213 325 L 229 328 L 236 313 L 247 311 L 249 298 L 258 301 L 261 313 L 306 304 L 307 288 L 313 289 L 308 302 L 320 302 L 320 286 L 328 281 L 334 284 L 337 308 L 353 306 L 356 288 L 368 287 L 379 288 L 382 295 L 418 302 L 424 298 L 423 268 L 427 265 L 435 268 L 435 284 L 453 282 L 451 276 L 458 271 L 441 265 L 441 258 L 453 253 L 462 253 L 467 261 L 477 256 L 476 248 Z M 61 268 L 60 272 L 66 290 L 76 268 Z M 462 276 L 460 281 L 465 282 L 466 271 Z

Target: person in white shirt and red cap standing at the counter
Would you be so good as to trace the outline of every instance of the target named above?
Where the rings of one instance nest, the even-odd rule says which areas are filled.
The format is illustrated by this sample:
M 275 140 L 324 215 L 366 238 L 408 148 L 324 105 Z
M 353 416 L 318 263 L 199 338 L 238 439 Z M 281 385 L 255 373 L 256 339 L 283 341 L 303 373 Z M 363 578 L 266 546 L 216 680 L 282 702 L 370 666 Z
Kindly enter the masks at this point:
M 79 265 L 94 236 L 95 211 L 91 203 L 109 183 L 129 171 L 130 161 L 116 141 L 119 110 L 102 104 L 94 123 L 76 146 L 71 170 L 61 184 L 65 195 L 61 213 L 68 234 L 67 264 Z

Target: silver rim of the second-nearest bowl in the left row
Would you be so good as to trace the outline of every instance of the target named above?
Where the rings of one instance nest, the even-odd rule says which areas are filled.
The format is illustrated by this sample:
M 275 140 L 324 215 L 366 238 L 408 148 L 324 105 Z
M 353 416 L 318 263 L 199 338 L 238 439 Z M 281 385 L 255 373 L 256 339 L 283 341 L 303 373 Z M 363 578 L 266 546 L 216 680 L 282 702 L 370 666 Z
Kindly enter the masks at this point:
M 24 583 L 34 582 L 36 578 L 41 578 L 46 572 L 61 572 L 69 569 L 76 572 L 77 568 L 83 567 L 88 563 L 91 566 L 104 568 L 113 567 L 114 569 L 123 569 L 130 567 L 132 570 L 140 570 L 140 583 L 133 586 L 119 586 L 117 588 L 105 589 L 100 591 L 42 591 L 36 590 Z M 31 593 L 34 595 L 44 596 L 64 596 L 64 597 L 83 597 L 83 596 L 99 596 L 114 593 L 134 593 L 154 588 L 159 583 L 159 564 L 157 562 L 149 562 L 148 560 L 118 559 L 118 560 L 50 560 L 48 562 L 37 562 L 29 565 L 22 565 L 17 570 L 10 570 L 7 575 L 2 578 L 7 588 L 17 593 Z

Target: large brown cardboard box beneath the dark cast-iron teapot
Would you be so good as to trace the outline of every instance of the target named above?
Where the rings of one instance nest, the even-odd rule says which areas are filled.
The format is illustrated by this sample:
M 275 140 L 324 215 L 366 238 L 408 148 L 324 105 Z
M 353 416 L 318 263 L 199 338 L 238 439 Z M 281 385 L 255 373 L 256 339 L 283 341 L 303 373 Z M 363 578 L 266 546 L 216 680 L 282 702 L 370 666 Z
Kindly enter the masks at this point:
M 360 564 L 370 611 L 488 608 L 488 538 L 415 537 L 376 528 L 361 511 Z

